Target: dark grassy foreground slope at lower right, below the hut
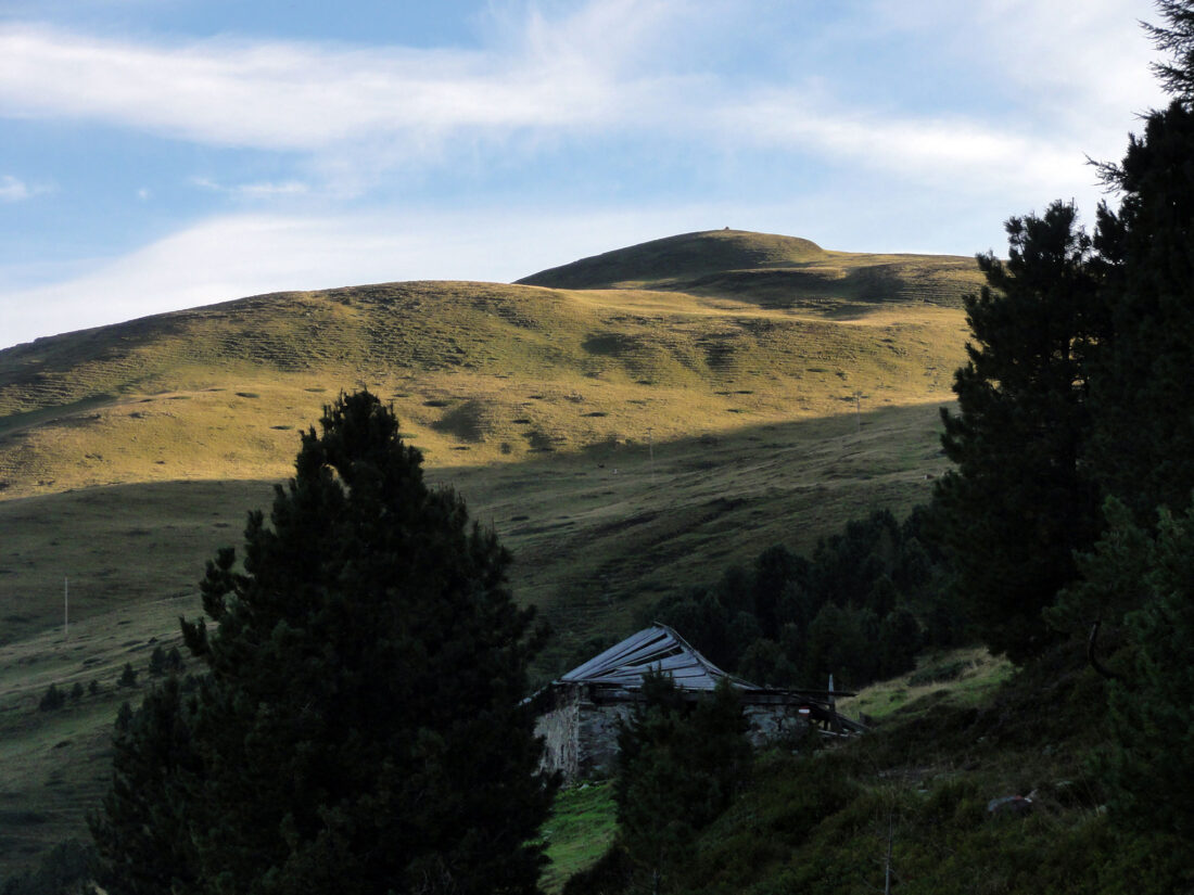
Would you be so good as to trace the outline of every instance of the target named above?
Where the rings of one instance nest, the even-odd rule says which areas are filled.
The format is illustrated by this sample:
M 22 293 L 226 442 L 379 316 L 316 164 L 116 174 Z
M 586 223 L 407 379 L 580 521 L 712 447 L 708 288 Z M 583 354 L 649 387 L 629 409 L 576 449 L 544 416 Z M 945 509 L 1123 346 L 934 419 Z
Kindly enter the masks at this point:
M 911 674 L 842 704 L 875 712 L 872 733 L 757 757 L 745 791 L 665 870 L 663 891 L 866 895 L 884 891 L 888 859 L 896 893 L 1192 891 L 1178 833 L 1109 822 L 1091 766 L 1102 687 L 1069 648 L 1015 672 L 980 650 L 923 656 Z M 1005 796 L 1030 806 L 992 811 Z M 568 795 L 560 810 L 552 883 L 565 866 L 596 863 L 580 845 L 589 828 L 609 839 L 615 816 L 599 788 Z M 636 890 L 618 864 L 605 866 L 621 884 L 576 890 Z

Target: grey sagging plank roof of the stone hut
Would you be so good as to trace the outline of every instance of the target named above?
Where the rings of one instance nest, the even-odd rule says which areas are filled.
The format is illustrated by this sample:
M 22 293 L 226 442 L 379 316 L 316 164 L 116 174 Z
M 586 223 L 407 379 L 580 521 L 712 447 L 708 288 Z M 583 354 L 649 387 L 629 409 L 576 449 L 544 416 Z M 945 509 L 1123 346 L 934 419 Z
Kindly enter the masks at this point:
M 728 678 L 741 690 L 758 690 L 753 684 L 721 671 L 665 624 L 654 624 L 632 634 L 560 680 L 640 690 L 647 672 L 670 674 L 681 690 L 713 690 L 722 678 Z

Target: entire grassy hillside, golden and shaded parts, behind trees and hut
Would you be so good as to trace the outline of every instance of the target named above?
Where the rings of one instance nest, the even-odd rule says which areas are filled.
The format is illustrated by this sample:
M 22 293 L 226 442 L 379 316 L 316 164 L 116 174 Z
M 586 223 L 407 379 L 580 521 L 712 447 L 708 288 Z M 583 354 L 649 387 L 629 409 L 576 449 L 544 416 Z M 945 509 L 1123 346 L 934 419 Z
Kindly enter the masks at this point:
M 605 259 L 567 288 L 267 295 L 0 352 L 0 866 L 81 833 L 121 667 L 198 612 L 204 560 L 341 389 L 393 401 L 429 476 L 511 548 L 558 634 L 541 674 L 769 544 L 925 499 L 973 261 L 737 232 Z

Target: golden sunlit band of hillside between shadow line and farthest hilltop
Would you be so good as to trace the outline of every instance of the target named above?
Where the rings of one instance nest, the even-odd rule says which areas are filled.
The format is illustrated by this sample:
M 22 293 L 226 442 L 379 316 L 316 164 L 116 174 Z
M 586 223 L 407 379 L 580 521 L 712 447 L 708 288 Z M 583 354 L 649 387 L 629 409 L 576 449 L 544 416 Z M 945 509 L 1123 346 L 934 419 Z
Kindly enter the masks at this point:
M 962 326 L 492 284 L 245 300 L 0 352 L 0 496 L 282 476 L 294 430 L 361 384 L 436 467 L 941 401 Z

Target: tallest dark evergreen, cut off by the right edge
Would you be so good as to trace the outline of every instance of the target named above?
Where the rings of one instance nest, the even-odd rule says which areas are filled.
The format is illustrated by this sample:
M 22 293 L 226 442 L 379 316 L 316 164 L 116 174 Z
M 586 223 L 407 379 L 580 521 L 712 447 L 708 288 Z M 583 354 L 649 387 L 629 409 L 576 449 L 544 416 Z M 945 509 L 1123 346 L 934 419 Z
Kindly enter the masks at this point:
M 1100 220 L 1114 338 L 1094 375 L 1093 457 L 1107 492 L 1150 524 L 1194 488 L 1194 110 L 1150 115 L 1106 172 L 1124 199 Z

